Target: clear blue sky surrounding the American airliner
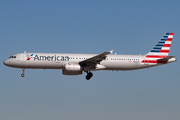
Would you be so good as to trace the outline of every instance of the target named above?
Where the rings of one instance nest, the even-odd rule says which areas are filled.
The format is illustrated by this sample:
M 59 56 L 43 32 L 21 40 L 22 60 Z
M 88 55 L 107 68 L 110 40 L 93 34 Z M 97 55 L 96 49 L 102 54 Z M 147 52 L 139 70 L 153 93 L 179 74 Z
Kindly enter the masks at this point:
M 1 0 L 1 120 L 178 120 L 180 63 L 63 76 L 61 70 L 9 68 L 15 53 L 146 54 L 173 32 L 179 59 L 178 0 Z

